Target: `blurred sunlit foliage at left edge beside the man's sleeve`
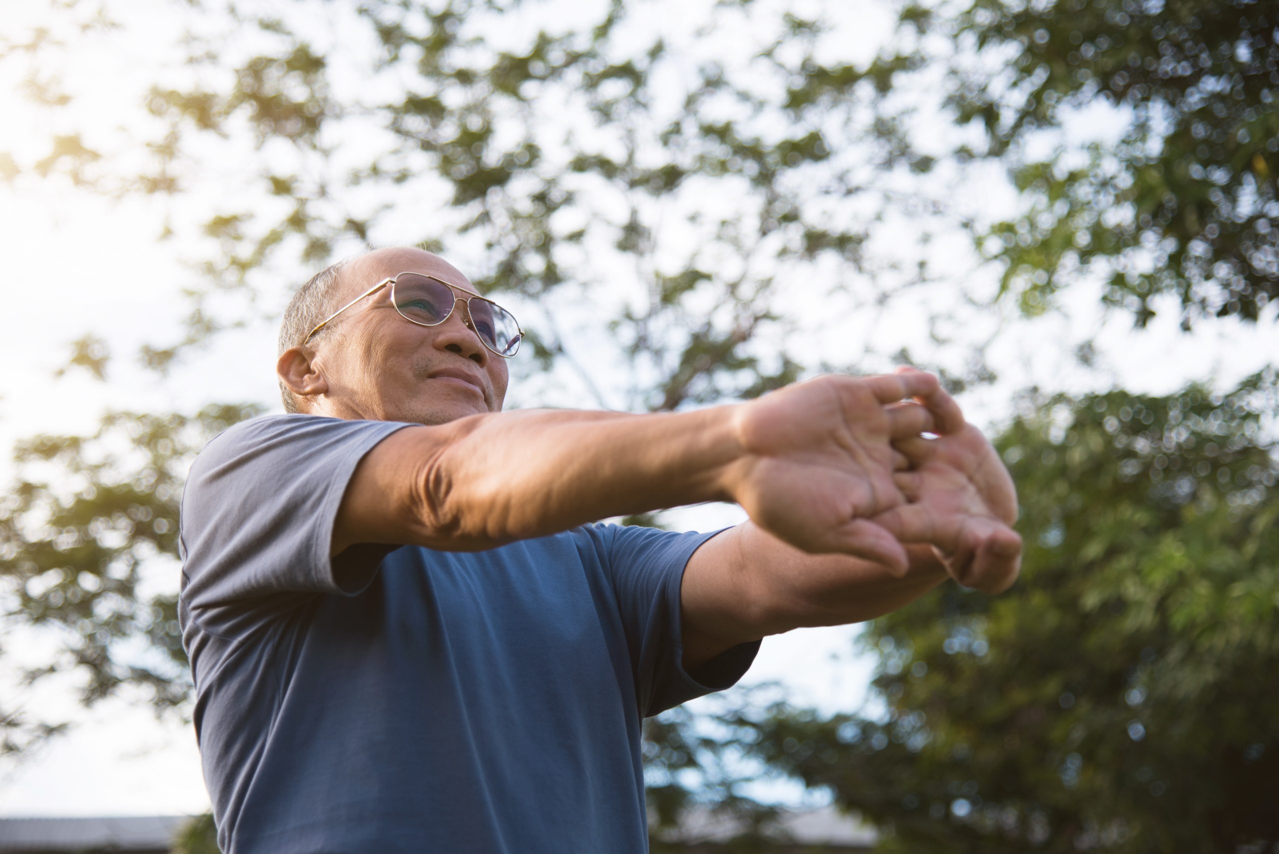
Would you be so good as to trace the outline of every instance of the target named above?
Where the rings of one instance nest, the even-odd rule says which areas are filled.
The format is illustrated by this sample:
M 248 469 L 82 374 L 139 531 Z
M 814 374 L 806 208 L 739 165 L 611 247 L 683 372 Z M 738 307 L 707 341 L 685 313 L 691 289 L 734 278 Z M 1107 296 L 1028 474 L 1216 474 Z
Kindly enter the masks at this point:
M 191 690 L 178 629 L 178 506 L 192 459 L 255 407 L 211 405 L 193 417 L 107 413 L 92 436 L 35 436 L 14 449 L 0 495 L 0 625 L 52 643 L 23 681 L 72 675 L 91 706 L 128 687 L 157 710 Z M 162 592 L 155 592 L 160 588 Z M 58 722 L 0 707 L 3 750 L 19 750 Z

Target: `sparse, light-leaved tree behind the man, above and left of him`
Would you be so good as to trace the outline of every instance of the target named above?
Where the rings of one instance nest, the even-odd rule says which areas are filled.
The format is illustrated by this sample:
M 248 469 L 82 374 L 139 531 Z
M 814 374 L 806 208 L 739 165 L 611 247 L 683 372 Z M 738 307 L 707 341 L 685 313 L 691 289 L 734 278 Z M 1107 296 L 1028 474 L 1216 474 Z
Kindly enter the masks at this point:
M 201 261 L 184 283 L 183 334 L 142 348 L 161 377 L 221 330 L 274 314 L 280 283 L 307 277 L 299 268 L 366 242 L 446 249 L 512 304 L 532 352 L 514 366 L 517 405 L 671 410 L 865 367 L 862 346 L 822 352 L 815 334 L 932 276 L 877 245 L 886 210 L 934 217 L 932 199 L 902 189 L 929 162 L 903 152 L 874 75 L 807 70 L 856 23 L 751 1 L 682 6 L 656 29 L 645 4 L 620 0 L 568 22 L 519 0 L 253 9 L 175 4 L 187 35 L 159 40 L 178 47 L 151 69 L 146 115 L 0 161 L 15 184 L 174 199 L 170 233 Z M 23 66 L 35 97 L 70 120 L 77 92 L 59 69 L 139 13 L 111 0 L 58 10 L 9 36 L 0 61 Z M 701 37 L 716 29 L 742 37 L 707 54 Z M 106 380 L 118 369 L 92 335 L 72 364 Z M 157 708 L 185 708 L 171 586 L 151 600 L 139 579 L 175 580 L 185 465 L 257 410 L 110 414 L 97 436 L 18 449 L 0 525 L 3 616 L 56 630 L 60 644 L 29 679 L 73 675 L 87 703 L 137 687 Z M 687 780 L 663 790 L 666 804 L 692 796 Z

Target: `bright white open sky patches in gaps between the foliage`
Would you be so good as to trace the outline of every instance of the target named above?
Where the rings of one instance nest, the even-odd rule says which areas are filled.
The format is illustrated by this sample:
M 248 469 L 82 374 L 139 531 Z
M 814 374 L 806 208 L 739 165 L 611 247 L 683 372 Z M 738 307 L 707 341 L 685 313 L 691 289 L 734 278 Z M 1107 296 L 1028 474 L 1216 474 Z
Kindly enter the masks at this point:
M 155 4 L 147 8 L 152 13 L 157 9 Z M 152 18 L 150 36 L 162 24 L 162 15 Z M 77 73 L 92 72 L 91 59 Z M 56 132 L 42 125 L 17 97 L 15 88 L 15 81 L 0 79 L 0 115 L 5 116 L 0 152 Z M 109 107 L 98 104 L 96 109 Z M 991 187 L 978 192 L 990 192 L 994 198 L 1000 190 Z M 0 295 L 8 318 L 5 335 L 0 336 L 0 364 L 10 368 L 0 375 L 0 447 L 33 432 L 90 430 L 105 407 L 191 409 L 210 399 L 275 405 L 270 373 L 274 346 L 266 329 L 220 339 L 214 349 L 165 382 L 127 364 L 139 343 L 166 338 L 157 330 L 180 317 L 183 306 L 175 294 L 192 276 L 183 263 L 191 245 L 155 239 L 164 212 L 164 203 L 156 199 L 115 203 L 56 183 L 0 183 Z M 912 248 L 909 224 L 902 226 L 898 239 L 903 252 L 917 251 Z M 944 260 L 946 249 L 930 252 L 940 252 Z M 975 275 L 989 279 L 987 272 Z M 1224 386 L 1279 362 L 1274 308 L 1256 327 L 1224 321 L 1201 323 L 1193 335 L 1183 335 L 1173 320 L 1175 312 L 1164 312 L 1151 329 L 1138 332 L 1127 317 L 1104 318 L 1096 291 L 1081 285 L 1060 313 L 1033 322 L 1005 320 L 1004 332 L 990 353 L 1001 372 L 1000 381 L 962 403 L 972 421 L 991 423 L 1007 413 L 1010 392 L 1031 384 L 1076 391 L 1118 384 L 1151 392 L 1170 391 L 1191 378 Z M 899 340 L 913 346 L 925 339 L 918 316 L 909 307 L 879 318 L 875 329 L 857 330 L 857 323 L 851 317 L 847 325 L 829 325 L 826 334 L 854 340 L 874 334 L 883 339 L 881 344 Z M 110 385 L 82 376 L 52 382 L 51 373 L 65 359 L 69 341 L 86 330 L 104 335 L 125 364 L 113 375 Z M 1085 372 L 1069 358 L 1074 345 L 1087 339 L 1095 339 L 1101 353 L 1101 367 L 1094 372 Z M 0 459 L 0 473 L 4 470 Z M 710 506 L 684 511 L 678 522 L 686 528 L 709 529 L 741 518 L 735 508 Z M 794 701 L 828 711 L 856 707 L 865 695 L 870 662 L 852 655 L 853 632 L 812 629 L 770 638 L 747 680 L 779 680 Z M 15 640 L 20 647 L 23 639 L 10 633 L 8 644 Z M 22 765 L 0 762 L 0 814 L 207 809 L 188 727 L 156 722 L 150 712 L 123 702 L 84 713 L 77 711 L 65 689 L 56 688 L 32 699 L 31 708 L 74 713 L 81 722 L 72 734 Z

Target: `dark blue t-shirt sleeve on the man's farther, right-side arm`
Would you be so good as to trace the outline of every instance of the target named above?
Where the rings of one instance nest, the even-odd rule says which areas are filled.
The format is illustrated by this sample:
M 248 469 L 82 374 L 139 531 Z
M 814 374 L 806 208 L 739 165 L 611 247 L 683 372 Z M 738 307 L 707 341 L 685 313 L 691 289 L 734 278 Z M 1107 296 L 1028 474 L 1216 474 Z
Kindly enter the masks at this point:
M 746 674 L 760 642 L 742 643 L 706 662 L 693 679 L 683 666 L 679 588 L 684 568 L 711 533 L 609 525 L 608 569 L 627 634 L 643 717 L 724 690 Z

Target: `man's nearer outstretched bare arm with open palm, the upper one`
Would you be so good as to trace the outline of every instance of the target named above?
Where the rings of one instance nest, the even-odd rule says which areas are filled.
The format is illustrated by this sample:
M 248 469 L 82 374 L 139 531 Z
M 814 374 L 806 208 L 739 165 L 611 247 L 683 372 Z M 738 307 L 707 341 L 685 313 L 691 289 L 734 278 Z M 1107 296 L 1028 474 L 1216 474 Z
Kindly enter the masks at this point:
M 692 413 L 528 410 L 402 430 L 370 451 L 333 554 L 357 542 L 480 550 L 614 515 L 737 501 L 810 552 L 876 559 L 900 543 L 868 518 L 904 500 L 893 439 L 934 428 L 931 375 L 820 377 Z

